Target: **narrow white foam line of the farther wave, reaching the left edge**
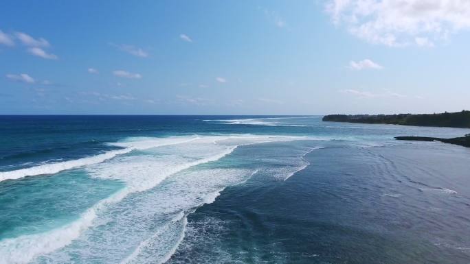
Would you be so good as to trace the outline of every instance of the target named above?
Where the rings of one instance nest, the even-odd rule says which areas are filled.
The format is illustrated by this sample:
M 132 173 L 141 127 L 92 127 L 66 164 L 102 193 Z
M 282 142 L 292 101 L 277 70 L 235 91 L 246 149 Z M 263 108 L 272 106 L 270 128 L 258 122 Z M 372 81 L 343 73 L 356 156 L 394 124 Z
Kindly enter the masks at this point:
M 109 145 L 114 145 L 117 147 L 126 147 L 124 149 L 111 150 L 104 154 L 99 154 L 96 156 L 91 156 L 87 158 L 79 158 L 77 160 L 67 160 L 60 163 L 51 163 L 45 165 L 39 165 L 36 167 L 30 167 L 25 169 L 17 169 L 14 171 L 1 171 L 0 172 L 0 182 L 3 180 L 16 180 L 24 178 L 26 176 L 37 176 L 43 174 L 54 174 L 60 171 L 65 171 L 67 169 L 73 169 L 76 167 L 83 167 L 87 165 L 93 165 L 96 163 L 102 163 L 105 160 L 114 158 L 117 155 L 126 154 L 133 151 L 134 149 L 149 149 L 153 147 L 161 147 L 164 145 L 173 145 L 179 143 L 186 143 L 198 139 L 193 137 L 190 139 L 184 140 L 175 140 L 176 137 L 166 138 L 166 139 L 154 139 L 153 141 L 144 141 L 144 143 L 136 142 L 135 145 L 132 145 L 133 142 L 123 142 L 123 143 L 109 143 Z

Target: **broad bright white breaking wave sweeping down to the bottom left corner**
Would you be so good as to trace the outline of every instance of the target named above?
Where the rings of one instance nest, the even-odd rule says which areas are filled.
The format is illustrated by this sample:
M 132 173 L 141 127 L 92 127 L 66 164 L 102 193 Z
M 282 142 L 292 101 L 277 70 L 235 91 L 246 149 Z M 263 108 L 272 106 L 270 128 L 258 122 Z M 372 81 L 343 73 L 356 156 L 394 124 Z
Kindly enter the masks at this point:
M 232 153 L 234 149 L 240 145 L 298 139 L 305 138 L 296 136 L 254 136 L 245 134 L 191 136 L 168 139 L 131 138 L 123 142 L 111 143 L 111 145 L 126 147 L 124 149 L 118 149 L 117 151 L 120 151 L 119 154 L 131 152 L 133 149 L 143 150 L 136 155 L 124 155 L 116 158 L 115 156 L 119 154 L 115 153 L 117 151 L 113 151 L 113 156 L 109 155 L 113 159 L 101 158 L 93 160 L 93 163 L 87 164 L 85 169 L 87 169 L 92 177 L 122 180 L 126 182 L 126 187 L 118 191 L 115 195 L 89 208 L 85 213 L 82 213 L 79 219 L 71 224 L 39 234 L 23 235 L 0 241 L 0 255 L 4 256 L 3 259 L 5 259 L 5 263 L 27 263 L 37 256 L 44 256 L 49 253 L 52 254 L 52 252 L 56 252 L 59 248 L 64 248 L 72 241 L 78 239 L 80 235 L 82 235 L 85 230 L 89 230 L 91 226 L 96 226 L 98 222 L 101 223 L 101 221 L 97 222 L 98 215 L 103 215 L 104 211 L 109 210 L 111 204 L 122 204 L 120 201 L 130 193 L 148 191 L 156 187 L 160 182 L 168 178 L 168 176 L 175 175 L 190 167 L 219 160 Z M 91 158 L 96 158 L 96 156 Z M 239 173 L 237 173 L 237 175 L 239 175 Z M 199 174 L 194 176 L 194 178 L 197 177 L 199 177 Z M 214 202 L 223 188 L 227 185 L 240 182 L 238 179 L 239 176 L 230 176 L 235 177 L 235 180 L 227 179 L 226 177 L 225 175 L 221 175 L 216 178 L 216 183 L 214 184 L 219 186 L 216 191 L 206 193 L 201 199 L 197 198 L 197 200 L 200 201 L 197 204 L 192 204 L 190 207 Z M 181 190 L 181 195 L 187 195 L 188 187 Z M 159 200 L 156 199 L 155 201 Z M 135 208 L 131 210 L 133 209 Z M 159 212 L 164 212 L 165 210 L 168 210 L 168 208 L 162 208 Z M 146 210 L 143 210 L 143 212 L 145 211 Z M 139 217 L 137 217 L 137 219 L 138 218 Z M 112 220 L 113 219 L 110 221 Z M 129 228 L 132 228 L 131 224 L 124 226 L 130 226 Z M 118 234 L 119 232 L 115 233 Z M 91 248 L 95 247 L 93 246 Z M 105 251 L 106 250 L 104 250 L 104 252 Z M 0 263 L 2 263 L 2 261 L 0 261 Z

